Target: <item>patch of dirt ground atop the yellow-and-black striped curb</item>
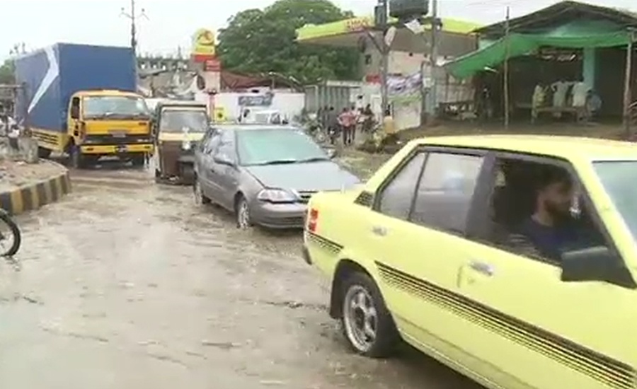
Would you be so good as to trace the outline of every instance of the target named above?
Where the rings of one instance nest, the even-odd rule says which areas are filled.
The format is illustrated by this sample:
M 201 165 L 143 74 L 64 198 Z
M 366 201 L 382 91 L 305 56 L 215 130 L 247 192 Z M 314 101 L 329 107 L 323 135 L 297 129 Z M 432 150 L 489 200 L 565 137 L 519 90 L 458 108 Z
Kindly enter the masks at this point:
M 40 163 L 24 163 L 0 159 L 0 191 L 26 185 L 29 182 L 45 180 L 62 174 L 64 168 L 57 163 L 40 160 Z

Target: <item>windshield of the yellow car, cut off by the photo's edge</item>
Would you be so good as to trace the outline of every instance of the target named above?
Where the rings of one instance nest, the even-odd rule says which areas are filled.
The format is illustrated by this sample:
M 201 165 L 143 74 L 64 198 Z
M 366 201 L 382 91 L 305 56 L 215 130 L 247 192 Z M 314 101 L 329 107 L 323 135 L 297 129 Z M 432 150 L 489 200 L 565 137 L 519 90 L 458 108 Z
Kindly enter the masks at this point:
M 637 161 L 595 162 L 593 168 L 637 241 Z

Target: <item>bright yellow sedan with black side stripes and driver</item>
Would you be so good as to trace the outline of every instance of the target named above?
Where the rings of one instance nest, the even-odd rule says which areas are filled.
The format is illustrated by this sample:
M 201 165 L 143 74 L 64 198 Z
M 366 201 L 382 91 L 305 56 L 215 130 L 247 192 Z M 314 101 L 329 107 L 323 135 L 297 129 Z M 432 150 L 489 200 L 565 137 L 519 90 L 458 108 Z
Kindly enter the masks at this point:
M 304 259 L 360 354 L 403 339 L 487 388 L 637 388 L 637 146 L 411 141 L 311 198 Z

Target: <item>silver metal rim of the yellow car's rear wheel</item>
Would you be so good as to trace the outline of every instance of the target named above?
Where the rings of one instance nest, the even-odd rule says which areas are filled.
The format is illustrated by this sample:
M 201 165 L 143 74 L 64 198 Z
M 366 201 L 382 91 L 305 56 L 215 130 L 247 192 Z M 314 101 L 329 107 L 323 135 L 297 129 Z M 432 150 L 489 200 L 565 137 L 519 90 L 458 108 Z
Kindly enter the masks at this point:
M 343 324 L 350 342 L 360 352 L 372 348 L 377 337 L 378 315 L 367 289 L 351 286 L 345 294 Z

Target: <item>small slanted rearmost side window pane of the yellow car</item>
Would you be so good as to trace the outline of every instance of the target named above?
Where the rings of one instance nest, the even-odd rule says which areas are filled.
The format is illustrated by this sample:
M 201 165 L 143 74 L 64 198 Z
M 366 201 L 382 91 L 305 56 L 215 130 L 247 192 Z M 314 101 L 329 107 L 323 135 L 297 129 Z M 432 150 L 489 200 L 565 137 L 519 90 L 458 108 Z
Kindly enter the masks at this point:
M 425 162 L 425 153 L 418 153 L 401 168 L 381 192 L 379 212 L 398 219 L 409 216 L 415 187 Z

